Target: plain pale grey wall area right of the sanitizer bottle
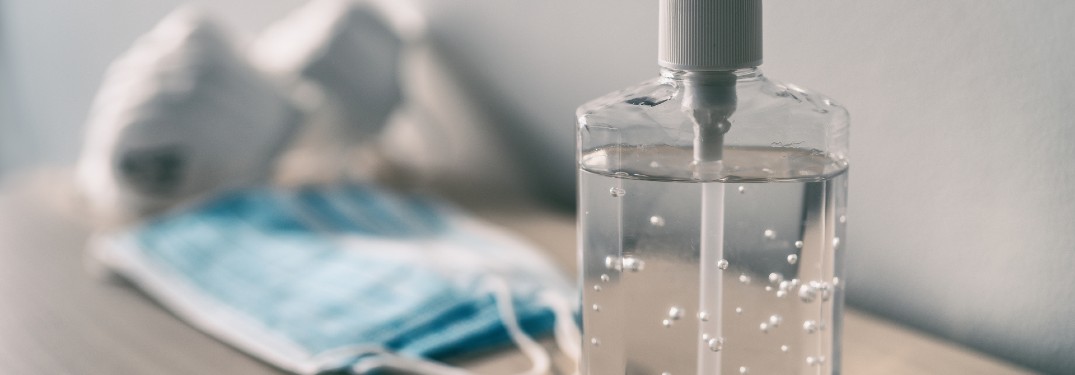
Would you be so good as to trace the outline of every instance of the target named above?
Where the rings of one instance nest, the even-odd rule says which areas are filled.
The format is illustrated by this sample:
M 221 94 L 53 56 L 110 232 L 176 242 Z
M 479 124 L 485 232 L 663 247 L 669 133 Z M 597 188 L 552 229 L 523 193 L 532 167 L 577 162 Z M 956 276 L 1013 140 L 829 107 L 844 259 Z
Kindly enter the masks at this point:
M 851 110 L 852 301 L 1075 372 L 1075 3 L 769 11 L 771 71 Z

